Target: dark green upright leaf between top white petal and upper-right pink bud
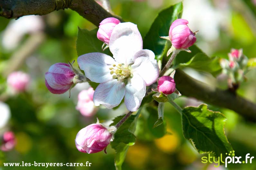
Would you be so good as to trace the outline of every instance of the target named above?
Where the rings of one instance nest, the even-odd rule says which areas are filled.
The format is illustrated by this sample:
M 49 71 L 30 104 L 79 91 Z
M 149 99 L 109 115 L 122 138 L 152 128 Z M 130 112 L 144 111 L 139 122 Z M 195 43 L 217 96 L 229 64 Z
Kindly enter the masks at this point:
M 180 2 L 161 11 L 144 37 L 143 48 L 152 50 L 158 60 L 162 59 L 165 46 L 167 51 L 170 48 L 170 43 L 167 40 L 161 39 L 160 36 L 169 35 L 170 25 L 173 21 L 178 19 L 179 15 L 182 13 L 182 9 L 183 5 L 182 2 Z

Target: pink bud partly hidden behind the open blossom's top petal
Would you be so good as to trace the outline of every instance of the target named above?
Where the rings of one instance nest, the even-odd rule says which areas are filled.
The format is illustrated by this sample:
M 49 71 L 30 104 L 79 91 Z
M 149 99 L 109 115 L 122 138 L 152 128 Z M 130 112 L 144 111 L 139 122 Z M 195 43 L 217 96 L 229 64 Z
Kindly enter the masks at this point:
M 102 22 L 100 22 L 99 30 L 97 32 L 97 38 L 109 45 L 112 31 L 114 27 L 119 23 L 120 21 L 113 17 L 104 19 Z

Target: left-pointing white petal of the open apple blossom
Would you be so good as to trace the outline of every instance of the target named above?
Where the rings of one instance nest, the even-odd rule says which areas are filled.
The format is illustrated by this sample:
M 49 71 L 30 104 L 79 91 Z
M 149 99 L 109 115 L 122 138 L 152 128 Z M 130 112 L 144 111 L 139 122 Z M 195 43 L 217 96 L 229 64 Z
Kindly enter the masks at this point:
M 85 71 L 85 76 L 96 83 L 112 80 L 110 67 L 115 64 L 114 58 L 99 52 L 88 53 L 78 57 L 79 67 Z

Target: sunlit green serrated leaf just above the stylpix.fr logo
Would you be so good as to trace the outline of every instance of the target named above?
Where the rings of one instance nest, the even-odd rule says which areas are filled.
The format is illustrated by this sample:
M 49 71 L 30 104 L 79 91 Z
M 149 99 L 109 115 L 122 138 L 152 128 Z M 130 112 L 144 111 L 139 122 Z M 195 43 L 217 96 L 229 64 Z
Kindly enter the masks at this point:
M 216 156 L 233 151 L 224 132 L 225 116 L 207 109 L 206 104 L 186 107 L 182 111 L 183 133 L 191 140 L 198 153 L 214 153 Z

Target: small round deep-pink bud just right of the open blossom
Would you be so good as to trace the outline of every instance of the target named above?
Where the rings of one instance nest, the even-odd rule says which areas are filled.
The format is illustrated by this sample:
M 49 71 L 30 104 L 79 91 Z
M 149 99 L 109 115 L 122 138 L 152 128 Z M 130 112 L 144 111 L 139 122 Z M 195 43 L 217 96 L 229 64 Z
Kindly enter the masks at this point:
M 175 81 L 170 76 L 162 76 L 158 80 L 157 90 L 163 94 L 172 94 L 176 90 Z

